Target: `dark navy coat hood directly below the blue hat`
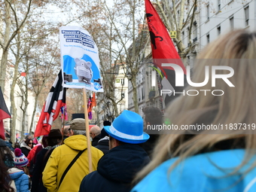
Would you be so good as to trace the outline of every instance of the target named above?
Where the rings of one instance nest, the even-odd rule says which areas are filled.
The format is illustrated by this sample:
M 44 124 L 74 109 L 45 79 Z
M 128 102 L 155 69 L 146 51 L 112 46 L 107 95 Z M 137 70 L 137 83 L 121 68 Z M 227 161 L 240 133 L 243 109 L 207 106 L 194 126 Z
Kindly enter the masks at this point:
M 148 154 L 139 145 L 119 145 L 99 160 L 97 170 L 111 181 L 130 183 L 136 172 L 148 162 Z

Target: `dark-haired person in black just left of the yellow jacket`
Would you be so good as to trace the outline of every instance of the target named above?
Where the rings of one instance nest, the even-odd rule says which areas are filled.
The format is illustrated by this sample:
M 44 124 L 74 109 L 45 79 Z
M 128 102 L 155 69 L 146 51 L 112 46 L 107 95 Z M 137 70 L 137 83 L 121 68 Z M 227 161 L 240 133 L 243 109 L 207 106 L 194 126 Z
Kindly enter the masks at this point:
M 62 133 L 60 130 L 50 130 L 50 133 L 47 136 L 44 136 L 47 139 L 47 146 L 38 152 L 35 160 L 35 167 L 33 170 L 32 176 L 32 192 L 47 192 L 47 188 L 44 187 L 42 182 L 42 172 L 47 163 L 47 160 L 52 154 L 53 150 L 59 145 L 62 144 Z

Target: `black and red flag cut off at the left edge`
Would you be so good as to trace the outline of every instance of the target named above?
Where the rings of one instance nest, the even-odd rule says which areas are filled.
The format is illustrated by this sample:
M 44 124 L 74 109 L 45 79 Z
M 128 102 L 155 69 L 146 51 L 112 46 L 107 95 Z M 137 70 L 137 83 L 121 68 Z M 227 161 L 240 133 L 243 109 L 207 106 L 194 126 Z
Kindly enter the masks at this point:
M 0 87 L 0 138 L 5 139 L 4 119 L 11 118 L 11 114 L 5 104 L 5 99 Z

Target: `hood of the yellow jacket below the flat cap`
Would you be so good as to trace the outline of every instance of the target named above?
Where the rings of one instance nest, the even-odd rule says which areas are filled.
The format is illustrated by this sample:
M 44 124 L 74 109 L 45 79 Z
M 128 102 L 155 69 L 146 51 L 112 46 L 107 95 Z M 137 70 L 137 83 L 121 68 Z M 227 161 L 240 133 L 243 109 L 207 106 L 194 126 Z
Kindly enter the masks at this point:
M 84 142 L 84 139 L 86 142 Z M 64 143 L 74 150 L 82 151 L 87 148 L 87 137 L 82 135 L 70 136 Z

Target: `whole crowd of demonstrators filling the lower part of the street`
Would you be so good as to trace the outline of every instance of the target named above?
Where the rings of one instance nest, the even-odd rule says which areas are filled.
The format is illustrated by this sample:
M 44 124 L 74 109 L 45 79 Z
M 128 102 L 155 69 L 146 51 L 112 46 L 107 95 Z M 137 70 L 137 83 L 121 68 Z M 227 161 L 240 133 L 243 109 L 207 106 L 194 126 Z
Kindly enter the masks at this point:
M 251 61 L 256 59 L 256 33 L 246 30 L 229 32 L 210 43 L 198 59 L 192 82 L 204 81 L 202 73 L 206 66 L 229 66 L 237 72 L 230 76 L 230 81 L 241 90 L 237 91 L 227 82 L 217 81 L 215 89 L 224 90 L 222 96 L 181 95 L 166 109 L 169 121 L 178 127 L 202 123 L 254 124 L 256 65 Z M 212 63 L 209 59 L 219 60 Z M 222 59 L 226 59 L 225 62 Z M 224 70 L 219 70 L 219 73 L 227 75 Z M 188 85 L 186 90 L 211 90 L 211 86 Z M 143 108 L 143 112 L 145 127 L 163 124 L 163 115 L 158 108 Z M 99 126 L 90 130 L 92 145 L 96 146 L 91 147 L 91 173 L 84 119 L 72 120 L 66 130 L 68 135 L 62 145 L 61 132 L 51 130 L 45 136 L 49 146 L 41 151 L 35 150 L 32 192 L 256 191 L 254 130 L 246 130 L 246 134 L 244 129 L 229 130 L 226 134 L 206 134 L 205 131 L 203 134 L 187 134 L 187 130 L 172 130 L 172 134 L 151 134 L 149 139 L 150 136 L 143 132 L 142 117 L 124 110 L 112 124 L 105 121 L 102 131 Z M 26 138 L 20 148 L 24 153 L 27 150 L 32 152 L 32 143 L 32 138 Z M 29 191 L 29 175 L 26 174 L 29 160 L 19 148 L 14 152 L 15 157 L 0 139 L 1 190 Z M 71 164 L 73 160 L 75 163 Z M 12 181 L 14 187 L 11 187 Z

